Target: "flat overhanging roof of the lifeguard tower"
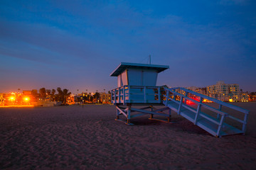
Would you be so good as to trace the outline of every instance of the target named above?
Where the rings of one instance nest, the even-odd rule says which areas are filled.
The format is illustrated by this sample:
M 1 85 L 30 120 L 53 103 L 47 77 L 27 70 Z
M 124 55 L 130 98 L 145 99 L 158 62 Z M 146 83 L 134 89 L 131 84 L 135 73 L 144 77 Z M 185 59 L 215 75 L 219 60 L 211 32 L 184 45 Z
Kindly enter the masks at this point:
M 114 69 L 114 71 L 110 74 L 110 77 L 117 77 L 119 74 L 122 74 L 122 72 L 124 72 L 124 70 L 126 69 L 149 69 L 149 70 L 156 70 L 156 72 L 159 73 L 159 72 L 163 72 L 166 69 L 169 69 L 169 66 L 121 62 L 119 66 L 116 69 Z

